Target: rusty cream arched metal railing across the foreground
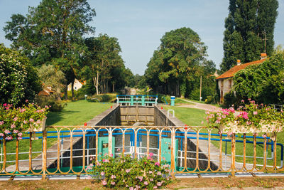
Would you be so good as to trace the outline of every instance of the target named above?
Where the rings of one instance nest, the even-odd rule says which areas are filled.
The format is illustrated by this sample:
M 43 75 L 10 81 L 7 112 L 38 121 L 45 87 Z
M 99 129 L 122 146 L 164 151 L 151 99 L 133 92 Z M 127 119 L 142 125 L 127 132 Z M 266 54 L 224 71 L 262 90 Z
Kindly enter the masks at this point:
M 173 175 L 284 170 L 283 144 L 257 134 L 228 137 L 214 134 L 206 127 L 153 126 L 48 126 L 44 132 L 36 134 L 42 134 L 38 137 L 41 144 L 37 146 L 33 145 L 36 141 L 32 140 L 32 133 L 21 140 L 1 139 L 0 175 L 42 175 L 45 178 L 57 174 L 88 174 L 86 167 L 90 159 L 97 161 L 100 154 L 114 157 L 131 154 L 139 159 L 149 152 L 159 162 L 168 162 Z M 28 152 L 20 151 L 21 141 L 28 141 Z M 48 143 L 53 145 L 48 148 Z M 28 158 L 22 157 L 25 154 Z

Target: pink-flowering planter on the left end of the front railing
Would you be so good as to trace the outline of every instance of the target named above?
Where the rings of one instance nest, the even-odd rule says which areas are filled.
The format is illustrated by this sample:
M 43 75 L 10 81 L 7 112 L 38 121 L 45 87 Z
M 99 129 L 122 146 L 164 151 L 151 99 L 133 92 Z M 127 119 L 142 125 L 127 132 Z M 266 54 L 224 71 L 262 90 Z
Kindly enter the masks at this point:
M 41 120 L 48 114 L 48 109 L 48 106 L 42 108 L 33 103 L 18 108 L 6 103 L 0 105 L 0 136 L 7 140 L 21 139 L 22 132 L 31 126 L 40 126 Z

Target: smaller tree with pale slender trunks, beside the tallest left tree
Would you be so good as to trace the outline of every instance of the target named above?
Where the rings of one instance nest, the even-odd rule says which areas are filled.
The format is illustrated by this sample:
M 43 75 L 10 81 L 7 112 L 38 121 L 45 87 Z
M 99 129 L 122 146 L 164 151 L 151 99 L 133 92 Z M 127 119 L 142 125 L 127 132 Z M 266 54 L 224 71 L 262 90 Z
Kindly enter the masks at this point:
M 102 93 L 109 92 L 110 80 L 114 90 L 116 81 L 125 69 L 117 38 L 99 34 L 97 38 L 86 38 L 85 44 L 88 48 L 83 62 L 85 78 L 92 78 L 97 95 L 99 86 Z

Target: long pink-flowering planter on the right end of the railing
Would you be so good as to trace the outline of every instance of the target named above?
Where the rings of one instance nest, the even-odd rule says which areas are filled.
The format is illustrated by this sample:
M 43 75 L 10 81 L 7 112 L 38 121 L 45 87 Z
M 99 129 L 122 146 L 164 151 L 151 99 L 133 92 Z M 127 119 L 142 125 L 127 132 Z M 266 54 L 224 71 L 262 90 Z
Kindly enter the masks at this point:
M 244 100 L 241 102 L 244 103 Z M 224 132 L 279 132 L 284 125 L 284 112 L 267 105 L 258 105 L 249 100 L 249 105 L 241 105 L 237 111 L 233 107 L 207 111 L 206 120 L 210 127 L 225 127 Z

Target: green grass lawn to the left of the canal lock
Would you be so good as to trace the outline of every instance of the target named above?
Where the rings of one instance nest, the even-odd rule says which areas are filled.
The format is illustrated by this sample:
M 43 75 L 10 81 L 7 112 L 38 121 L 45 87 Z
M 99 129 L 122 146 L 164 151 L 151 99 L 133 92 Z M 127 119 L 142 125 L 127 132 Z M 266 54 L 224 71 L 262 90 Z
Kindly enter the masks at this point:
M 67 106 L 64 107 L 62 112 L 50 112 L 48 113 L 48 120 L 46 125 L 84 125 L 84 122 L 91 120 L 96 115 L 109 109 L 113 103 L 99 103 L 99 102 L 87 102 L 86 100 L 79 100 L 76 102 L 67 102 Z M 53 130 L 53 129 L 50 129 Z M 50 131 L 48 130 L 48 131 Z M 67 134 L 67 133 L 65 133 Z M 42 134 L 36 136 L 42 137 Z M 48 134 L 48 136 L 57 136 L 56 133 Z M 29 137 L 29 134 L 24 134 L 23 137 Z M 48 148 L 57 142 L 57 138 L 48 138 Z M 29 139 L 21 139 L 19 141 L 19 152 L 28 152 Z M 42 139 L 32 141 L 33 152 L 42 152 Z M 7 153 L 16 152 L 16 141 L 6 143 Z M 33 158 L 37 157 L 40 153 L 33 154 Z M 15 160 L 16 156 L 7 155 L 7 161 Z M 28 159 L 28 154 L 19 154 L 19 159 Z M 13 165 L 14 162 L 7 163 L 6 166 Z M 0 168 L 2 165 L 0 164 Z

